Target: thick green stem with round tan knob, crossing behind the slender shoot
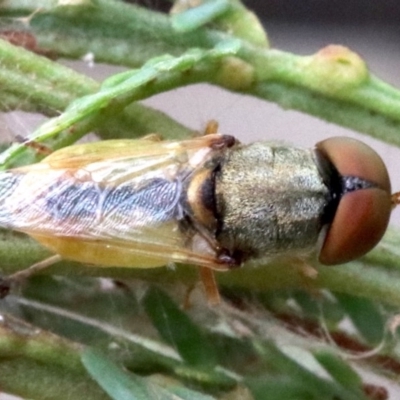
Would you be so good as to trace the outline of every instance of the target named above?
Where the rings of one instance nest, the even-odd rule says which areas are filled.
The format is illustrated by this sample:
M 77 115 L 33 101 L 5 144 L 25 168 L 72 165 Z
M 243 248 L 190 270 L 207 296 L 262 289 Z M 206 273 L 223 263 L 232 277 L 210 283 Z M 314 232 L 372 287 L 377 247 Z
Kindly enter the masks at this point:
M 98 62 L 126 66 L 142 65 L 163 53 L 180 55 L 194 47 L 210 49 L 232 37 L 205 28 L 179 33 L 174 31 L 167 15 L 110 0 L 99 0 L 93 6 L 54 8 L 55 4 L 52 1 L 6 2 L 1 12 L 5 16 L 30 15 L 24 30 L 28 29 L 38 46 L 48 51 L 57 54 L 63 49 L 58 54 L 68 58 L 92 52 Z M 41 11 L 33 13 L 39 7 Z M 9 29 L 18 31 L 15 20 L 10 21 Z M 178 86 L 195 81 L 211 82 L 399 145 L 400 92 L 369 75 L 354 53 L 337 50 L 333 57 L 329 51 L 301 57 L 242 40 L 237 56 L 254 69 L 253 85 L 235 86 L 234 78 L 222 81 L 214 71 L 214 75 L 198 76 Z M 173 87 L 176 86 L 158 89 Z

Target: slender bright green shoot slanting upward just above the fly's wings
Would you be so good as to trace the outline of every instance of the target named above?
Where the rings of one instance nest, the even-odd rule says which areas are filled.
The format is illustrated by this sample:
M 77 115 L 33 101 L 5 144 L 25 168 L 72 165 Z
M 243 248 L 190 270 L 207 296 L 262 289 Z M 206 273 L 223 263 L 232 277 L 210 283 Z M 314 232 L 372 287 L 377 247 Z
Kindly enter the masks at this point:
M 10 46 L 5 42 L 2 44 L 5 48 Z M 229 41 L 221 43 L 221 45 L 209 51 L 191 50 L 178 58 L 160 57 L 151 60 L 140 70 L 115 75 L 106 80 L 95 93 L 80 97 L 72 102 L 63 114 L 44 123 L 27 139 L 35 143 L 46 143 L 51 149 L 57 149 L 76 141 L 99 125 L 99 130 L 102 131 L 104 126 L 109 127 L 112 124 L 115 116 L 124 112 L 126 106 L 134 107 L 131 104 L 133 101 L 146 98 L 152 93 L 159 93 L 167 88 L 178 87 L 182 84 L 182 81 L 194 83 L 207 80 L 207 78 L 212 79 L 213 76 L 220 76 L 220 69 L 224 70 L 225 60 L 223 57 L 234 53 L 237 49 L 237 41 Z M 28 53 L 22 49 L 18 49 L 18 51 Z M 35 58 L 33 54 L 31 54 L 31 57 Z M 32 72 L 35 73 L 34 68 Z M 246 73 L 247 71 L 244 71 L 244 74 Z M 51 102 L 51 100 L 49 101 Z M 140 108 L 140 106 L 135 108 L 138 107 Z M 130 114 L 126 114 L 130 110 L 128 108 L 125 111 L 125 118 L 120 119 L 120 123 L 126 123 L 129 122 L 129 118 L 132 119 Z M 146 116 L 141 116 L 139 119 L 142 125 L 145 121 L 153 121 L 146 125 L 146 128 L 149 129 L 147 133 L 154 132 L 150 130 L 150 127 L 157 126 L 154 121 L 160 120 L 166 121 L 164 129 L 168 127 L 170 130 L 168 132 L 163 130 L 158 133 L 168 133 L 168 137 L 173 136 L 176 139 L 181 138 L 182 133 L 188 132 L 177 123 L 173 126 L 167 117 L 161 113 L 153 112 L 152 119 L 148 118 L 149 114 L 150 111 L 147 110 Z M 140 114 L 136 113 L 136 115 Z M 104 122 L 104 126 L 100 124 L 101 121 Z M 158 126 L 161 126 L 161 124 L 159 123 Z M 125 128 L 125 130 L 132 129 L 130 125 Z M 117 130 L 114 126 L 112 129 Z M 29 153 L 31 157 L 25 157 Z M 1 154 L 0 164 L 3 168 L 10 168 L 19 161 L 19 158 L 25 158 L 22 163 L 26 164 L 32 161 L 32 155 L 35 156 L 35 152 L 24 143 L 15 143 Z

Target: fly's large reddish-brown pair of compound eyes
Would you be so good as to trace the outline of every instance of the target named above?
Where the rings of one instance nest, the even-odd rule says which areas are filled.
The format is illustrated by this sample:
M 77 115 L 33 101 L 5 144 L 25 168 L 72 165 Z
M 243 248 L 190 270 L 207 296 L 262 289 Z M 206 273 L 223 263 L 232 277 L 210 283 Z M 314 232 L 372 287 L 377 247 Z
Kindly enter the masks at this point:
M 316 145 L 340 175 L 341 193 L 319 260 L 341 264 L 361 257 L 382 238 L 391 212 L 388 172 L 364 143 L 337 137 Z

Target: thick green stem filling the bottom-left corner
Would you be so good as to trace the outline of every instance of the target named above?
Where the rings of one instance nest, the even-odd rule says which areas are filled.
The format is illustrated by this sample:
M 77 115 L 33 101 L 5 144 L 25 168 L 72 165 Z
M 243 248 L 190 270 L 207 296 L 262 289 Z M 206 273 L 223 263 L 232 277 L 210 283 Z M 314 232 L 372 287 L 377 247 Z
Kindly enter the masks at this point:
M 2 315 L 0 386 L 29 399 L 109 399 L 80 361 L 81 346 Z

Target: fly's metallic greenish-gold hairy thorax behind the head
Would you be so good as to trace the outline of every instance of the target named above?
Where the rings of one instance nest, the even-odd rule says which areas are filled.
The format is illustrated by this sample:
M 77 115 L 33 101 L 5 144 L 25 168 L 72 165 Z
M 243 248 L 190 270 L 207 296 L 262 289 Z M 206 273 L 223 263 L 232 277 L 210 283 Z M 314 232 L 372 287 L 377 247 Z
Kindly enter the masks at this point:
M 315 249 L 330 198 L 317 158 L 268 143 L 228 150 L 216 176 L 219 244 L 243 260 Z

